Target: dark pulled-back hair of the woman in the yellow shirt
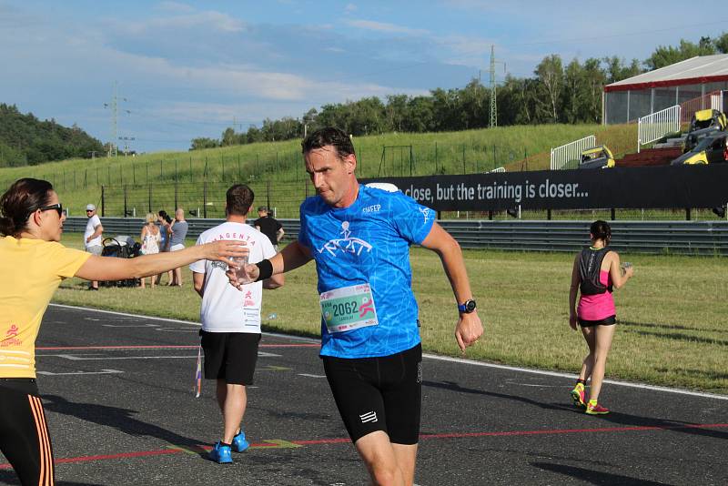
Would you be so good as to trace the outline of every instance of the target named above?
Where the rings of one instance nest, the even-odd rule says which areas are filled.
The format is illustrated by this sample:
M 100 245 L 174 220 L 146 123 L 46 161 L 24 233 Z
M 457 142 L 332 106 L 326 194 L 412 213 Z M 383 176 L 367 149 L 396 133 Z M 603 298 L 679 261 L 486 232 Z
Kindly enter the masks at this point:
M 53 185 L 47 180 L 18 179 L 0 197 L 0 234 L 15 237 L 25 231 L 28 217 L 47 206 Z

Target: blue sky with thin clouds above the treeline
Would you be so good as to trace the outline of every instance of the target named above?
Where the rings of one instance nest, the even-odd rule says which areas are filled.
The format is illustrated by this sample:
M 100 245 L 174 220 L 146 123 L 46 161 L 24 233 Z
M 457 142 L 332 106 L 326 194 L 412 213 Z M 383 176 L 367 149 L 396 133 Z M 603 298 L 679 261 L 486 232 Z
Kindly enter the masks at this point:
M 0 102 L 141 152 L 187 150 L 262 120 L 363 96 L 461 87 L 490 46 L 512 76 L 544 56 L 641 61 L 728 31 L 723 3 L 0 0 Z M 595 14 L 599 12 L 599 14 Z M 122 143 L 123 146 L 123 143 Z

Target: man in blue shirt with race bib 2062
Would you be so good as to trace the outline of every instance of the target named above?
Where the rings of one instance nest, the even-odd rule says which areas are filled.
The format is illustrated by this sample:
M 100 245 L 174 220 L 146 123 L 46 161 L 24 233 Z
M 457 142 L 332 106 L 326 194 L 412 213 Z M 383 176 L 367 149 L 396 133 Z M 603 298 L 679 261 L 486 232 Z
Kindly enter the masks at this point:
M 261 280 L 316 261 L 320 356 L 341 418 L 375 484 L 411 485 L 422 351 L 410 245 L 440 256 L 460 311 L 455 339 L 464 351 L 482 325 L 460 245 L 432 209 L 401 192 L 359 185 L 357 157 L 343 131 L 322 128 L 302 146 L 317 195 L 301 205 L 298 241 L 246 272 Z M 228 277 L 239 285 L 232 272 Z

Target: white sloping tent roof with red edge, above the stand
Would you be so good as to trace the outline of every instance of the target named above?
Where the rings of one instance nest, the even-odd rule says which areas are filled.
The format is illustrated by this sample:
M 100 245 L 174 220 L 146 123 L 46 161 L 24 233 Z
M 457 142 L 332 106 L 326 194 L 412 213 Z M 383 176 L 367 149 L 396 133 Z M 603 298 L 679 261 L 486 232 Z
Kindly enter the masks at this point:
M 693 85 L 728 80 L 728 54 L 695 56 L 649 73 L 604 86 L 604 91 L 626 91 L 657 86 Z

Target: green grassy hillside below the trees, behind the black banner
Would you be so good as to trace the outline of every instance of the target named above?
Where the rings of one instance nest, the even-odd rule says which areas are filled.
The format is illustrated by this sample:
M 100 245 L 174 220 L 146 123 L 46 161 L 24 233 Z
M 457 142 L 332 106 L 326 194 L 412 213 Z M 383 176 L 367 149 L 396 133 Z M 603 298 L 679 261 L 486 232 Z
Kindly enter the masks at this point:
M 620 157 L 636 140 L 636 127 L 541 125 L 399 133 L 354 137 L 354 146 L 359 156 L 359 177 L 471 174 L 496 167 L 510 171 L 548 168 L 551 147 L 591 134 Z M 0 187 L 5 189 L 19 177 L 50 180 L 64 205 L 76 216 L 83 214 L 86 203 L 100 203 L 102 186 L 106 216 L 122 216 L 125 208 L 137 215 L 149 208 L 169 210 L 177 203 L 201 211 L 208 208 L 208 217 L 221 217 L 225 188 L 242 181 L 254 188 L 259 203 L 281 207 L 290 202 L 292 214 L 279 216 L 295 217 L 298 202 L 313 192 L 306 187 L 308 177 L 299 140 L 8 167 L 0 169 Z M 177 194 L 173 187 L 176 180 Z

